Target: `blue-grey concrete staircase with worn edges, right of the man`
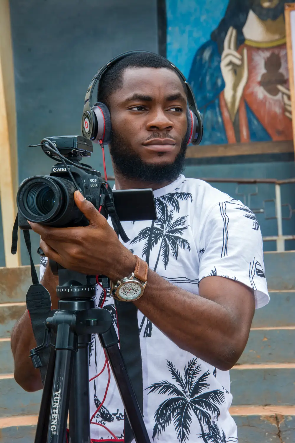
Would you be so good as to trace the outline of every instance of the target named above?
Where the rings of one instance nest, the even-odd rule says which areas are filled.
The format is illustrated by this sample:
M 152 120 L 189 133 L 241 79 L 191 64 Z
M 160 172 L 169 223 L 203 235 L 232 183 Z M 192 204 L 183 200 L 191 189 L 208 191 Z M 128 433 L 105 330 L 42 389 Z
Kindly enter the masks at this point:
M 264 253 L 270 302 L 230 371 L 239 443 L 295 442 L 295 252 Z

